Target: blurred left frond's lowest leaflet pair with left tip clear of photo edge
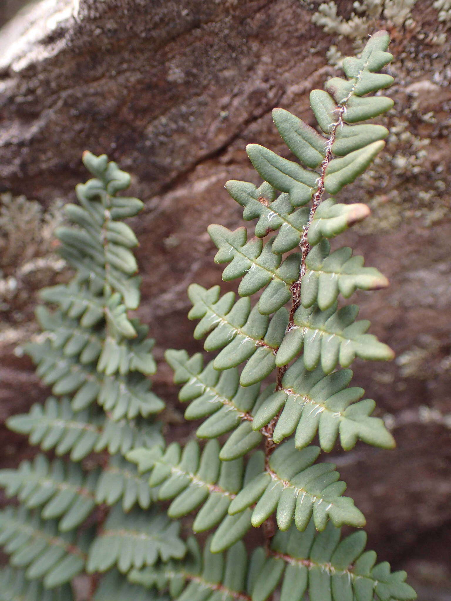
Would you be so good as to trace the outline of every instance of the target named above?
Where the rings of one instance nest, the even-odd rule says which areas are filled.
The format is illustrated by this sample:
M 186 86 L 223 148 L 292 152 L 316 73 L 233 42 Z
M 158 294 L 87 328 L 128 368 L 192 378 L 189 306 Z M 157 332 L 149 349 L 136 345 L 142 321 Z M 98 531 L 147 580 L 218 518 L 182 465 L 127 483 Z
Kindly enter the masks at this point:
M 54 449 L 58 456 L 70 453 L 72 461 L 84 459 L 91 451 L 108 450 L 125 455 L 135 447 L 162 445 L 160 424 L 144 421 L 113 421 L 108 415 L 94 415 L 90 409 L 75 412 L 69 398 L 49 397 L 44 405 L 35 403 L 28 413 L 12 415 L 7 426 L 29 435 L 32 445 L 43 451 Z

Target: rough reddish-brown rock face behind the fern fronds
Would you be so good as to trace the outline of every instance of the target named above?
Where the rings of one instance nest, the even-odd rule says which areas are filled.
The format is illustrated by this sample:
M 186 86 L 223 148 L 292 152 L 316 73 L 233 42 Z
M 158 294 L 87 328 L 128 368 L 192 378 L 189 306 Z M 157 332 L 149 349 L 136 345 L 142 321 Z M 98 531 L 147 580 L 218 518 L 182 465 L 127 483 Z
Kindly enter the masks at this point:
M 352 3 L 337 4 L 349 17 Z M 1 186 L 44 207 L 72 200 L 86 177 L 84 148 L 132 171 L 132 192 L 146 201 L 133 222 L 141 317 L 160 349 L 200 349 L 185 290 L 220 278 L 206 226 L 241 222 L 224 182 L 258 182 L 247 142 L 289 156 L 271 109 L 283 106 L 314 124 L 308 92 L 336 73 L 325 53 L 331 44 L 352 52 L 351 41 L 314 25 L 316 8 L 299 0 L 44 0 L 37 8 L 28 25 L 22 19 L 0 35 Z M 409 563 L 425 587 L 431 570 L 445 587 L 451 566 L 437 549 L 446 555 L 449 536 L 434 531 L 451 520 L 450 44 L 437 37 L 446 24 L 439 25 L 432 1 L 417 2 L 412 18 L 407 29 L 372 24 L 388 26 L 396 55 L 395 106 L 385 121 L 391 136 L 374 168 L 340 197 L 373 209 L 340 245 L 349 243 L 391 280 L 390 289 L 361 293 L 357 302 L 398 359 L 356 362 L 355 379 L 379 415 L 393 415 L 398 447 L 361 445 L 334 460 L 367 516 L 370 543 L 387 559 Z M 51 250 L 35 243 L 34 271 L 26 248 L 2 264 L 14 281 L 2 304 L 1 419 L 47 392 L 13 348 L 32 331 L 35 290 L 64 278 L 52 270 Z M 174 394 L 164 365 L 157 380 L 159 392 Z M 177 412 L 174 403 L 168 419 L 177 421 Z M 19 448 L 16 437 L 8 442 L 13 460 Z M 434 598 L 449 598 L 440 594 Z M 432 599 L 431 590 L 425 595 Z

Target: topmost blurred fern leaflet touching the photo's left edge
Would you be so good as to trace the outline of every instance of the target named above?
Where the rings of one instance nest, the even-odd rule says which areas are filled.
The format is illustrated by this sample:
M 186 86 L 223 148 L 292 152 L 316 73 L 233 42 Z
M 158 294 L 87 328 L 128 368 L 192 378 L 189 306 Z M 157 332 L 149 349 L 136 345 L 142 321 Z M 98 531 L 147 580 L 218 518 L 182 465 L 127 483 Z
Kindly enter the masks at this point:
M 28 509 L 41 509 L 43 519 L 61 518 L 58 529 L 67 532 L 79 526 L 96 506 L 94 489 L 99 474 L 85 474 L 77 463 L 61 459 L 49 462 L 37 455 L 17 469 L 0 470 L 0 486 L 6 495 L 16 496 Z

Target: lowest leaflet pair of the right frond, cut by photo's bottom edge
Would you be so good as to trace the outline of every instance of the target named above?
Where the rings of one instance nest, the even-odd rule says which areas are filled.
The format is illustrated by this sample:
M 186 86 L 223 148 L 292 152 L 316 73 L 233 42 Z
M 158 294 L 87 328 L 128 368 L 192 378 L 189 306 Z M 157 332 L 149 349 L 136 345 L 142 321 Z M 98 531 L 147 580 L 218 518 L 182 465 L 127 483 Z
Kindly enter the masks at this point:
M 150 589 L 168 590 L 177 601 L 266 601 L 278 584 L 280 601 L 303 601 L 306 593 L 310 601 L 416 599 L 405 572 L 390 572 L 387 562 L 375 565 L 375 552 L 364 551 L 362 531 L 340 540 L 340 529 L 329 525 L 318 533 L 310 522 L 302 533 L 293 527 L 279 532 L 268 553 L 256 548 L 250 558 L 242 543 L 225 558 L 213 554 L 210 545 L 207 541 L 201 554 L 190 539 L 186 560 L 133 570 L 129 578 Z

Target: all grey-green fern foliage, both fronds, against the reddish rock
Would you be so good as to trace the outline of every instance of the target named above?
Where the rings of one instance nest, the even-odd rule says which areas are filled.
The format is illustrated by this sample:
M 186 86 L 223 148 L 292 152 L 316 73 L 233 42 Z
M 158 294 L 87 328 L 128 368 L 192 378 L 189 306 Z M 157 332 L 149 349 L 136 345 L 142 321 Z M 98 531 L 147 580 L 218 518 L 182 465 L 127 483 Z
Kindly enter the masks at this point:
M 75 276 L 42 291 L 52 307 L 37 311 L 45 337 L 27 347 L 53 396 L 8 421 L 58 457 L 0 472 L 21 505 L 0 515 L 12 566 L 0 601 L 70 601 L 68 583 L 81 572 L 92 601 L 266 601 L 277 589 L 281 601 L 416 597 L 404 572 L 364 551 L 365 518 L 333 463 L 320 460 L 338 442 L 394 445 L 346 369 L 393 352 L 342 301 L 388 281 L 330 244 L 369 209 L 324 198 L 384 147 L 387 129 L 360 122 L 393 105 L 368 95 L 393 79 L 376 73 L 390 62 L 388 41 L 387 32 L 373 35 L 359 58 L 343 61 L 348 79 L 311 93 L 324 133 L 274 110 L 298 160 L 250 144 L 264 182 L 226 184 L 255 221 L 254 236 L 209 228 L 215 261 L 227 263 L 222 279 L 240 280 L 240 298 L 192 284 L 194 337 L 215 356 L 204 364 L 201 353 L 165 354 L 199 441 L 167 444 L 153 418 L 164 403 L 150 389 L 153 341 L 129 315 L 139 304 L 137 239 L 121 221 L 142 203 L 118 195 L 129 176 L 115 163 L 84 155 L 94 179 L 78 186 L 80 205 L 66 207 L 75 227 L 57 233 Z M 195 534 L 210 532 L 203 545 L 180 535 L 190 523 Z M 358 530 L 342 537 L 343 525 Z M 265 544 L 248 555 L 242 538 L 252 528 Z

